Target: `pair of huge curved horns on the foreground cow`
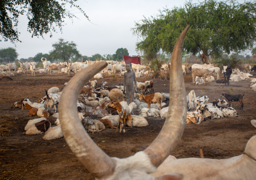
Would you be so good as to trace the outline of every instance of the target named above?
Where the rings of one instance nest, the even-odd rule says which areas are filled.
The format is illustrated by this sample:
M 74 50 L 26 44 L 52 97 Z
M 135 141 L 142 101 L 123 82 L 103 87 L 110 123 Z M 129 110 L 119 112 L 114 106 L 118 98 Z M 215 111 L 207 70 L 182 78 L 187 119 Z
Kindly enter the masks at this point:
M 173 50 L 170 70 L 171 107 L 169 106 L 167 118 L 159 135 L 144 150 L 156 167 L 177 145 L 185 127 L 186 94 L 181 69 L 181 50 L 187 30 L 188 26 L 181 33 Z M 106 62 L 95 63 L 77 73 L 64 88 L 59 102 L 59 119 L 63 135 L 79 160 L 97 178 L 112 174 L 116 164 L 115 160 L 103 152 L 85 131 L 77 113 L 77 98 L 89 79 L 106 66 Z

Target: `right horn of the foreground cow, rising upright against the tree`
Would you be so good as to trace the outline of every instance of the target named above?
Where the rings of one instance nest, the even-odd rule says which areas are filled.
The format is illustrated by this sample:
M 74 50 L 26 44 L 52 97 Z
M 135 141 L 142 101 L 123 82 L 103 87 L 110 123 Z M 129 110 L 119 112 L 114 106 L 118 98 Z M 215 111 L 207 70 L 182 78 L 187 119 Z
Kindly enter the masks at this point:
M 187 26 L 175 44 L 170 69 L 170 101 L 168 115 L 156 139 L 144 150 L 152 164 L 158 167 L 180 140 L 186 122 L 186 91 L 182 74 L 182 45 Z

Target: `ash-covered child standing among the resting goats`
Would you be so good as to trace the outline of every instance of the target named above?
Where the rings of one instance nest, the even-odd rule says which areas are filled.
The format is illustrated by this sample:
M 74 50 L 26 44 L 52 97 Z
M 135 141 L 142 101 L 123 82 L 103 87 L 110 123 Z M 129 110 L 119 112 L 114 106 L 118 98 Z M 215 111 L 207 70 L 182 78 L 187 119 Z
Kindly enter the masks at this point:
M 136 75 L 135 75 L 135 72 L 131 71 L 131 68 L 132 68 L 132 63 L 125 64 L 125 69 L 127 72 L 124 73 L 123 94 L 125 94 L 125 89 L 126 89 L 126 102 L 128 105 L 130 104 L 130 102 L 134 101 L 134 92 L 137 93 Z M 130 95 L 131 95 L 131 99 L 130 99 Z

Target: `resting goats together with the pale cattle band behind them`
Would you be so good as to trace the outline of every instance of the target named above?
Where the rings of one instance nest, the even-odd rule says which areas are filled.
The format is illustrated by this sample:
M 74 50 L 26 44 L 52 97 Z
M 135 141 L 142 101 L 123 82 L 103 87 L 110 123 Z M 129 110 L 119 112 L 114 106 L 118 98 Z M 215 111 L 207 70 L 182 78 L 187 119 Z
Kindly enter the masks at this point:
M 80 63 L 64 62 L 51 64 L 46 59 L 43 61 L 43 58 L 41 61 L 43 63 L 43 69 L 38 69 L 38 63 L 35 62 L 23 63 L 18 61 L 21 67 L 17 73 L 28 73 L 31 71 L 32 76 L 35 76 L 36 72 L 48 72 L 51 75 L 52 70 L 56 70 L 58 74 L 65 72 L 70 75 L 71 72 L 76 74 L 78 71 L 81 71 L 82 69 L 96 63 L 86 61 Z M 162 71 L 169 71 L 169 68 L 169 64 L 162 65 Z M 223 66 L 224 73 L 226 68 L 227 66 Z M 132 69 L 136 72 L 137 77 L 149 75 L 151 73 L 149 68 L 144 65 L 132 64 Z M 206 81 L 215 80 L 213 76 L 217 76 L 217 80 L 219 80 L 220 77 L 220 68 L 214 67 L 212 64 L 194 64 L 190 68 L 188 68 L 187 64 L 182 65 L 182 71 L 184 74 L 189 69 L 192 72 L 193 84 L 205 84 Z M 255 73 L 256 67 L 254 66 L 251 68 L 250 65 L 245 64 L 243 65 L 242 69 L 245 72 L 239 71 L 238 68 L 234 69 L 232 75 L 230 76 L 230 81 L 236 82 L 239 80 L 251 80 L 252 84 L 250 87 L 253 91 L 256 91 L 256 83 L 254 83 L 256 82 L 256 78 L 250 77 L 252 75 L 248 73 L 250 71 L 254 71 Z M 1 65 L 1 73 L 3 75 L 5 71 L 8 76 L 10 76 L 11 72 L 13 72 L 13 75 L 15 75 L 16 64 L 9 63 L 6 66 Z M 104 75 L 107 76 L 108 74 L 115 74 L 117 72 L 119 72 L 120 75 L 123 75 L 125 72 L 125 65 L 123 62 L 108 61 L 107 67 L 104 68 L 100 73 L 96 74 L 94 78 L 103 78 Z M 159 92 L 154 93 L 153 81 L 137 82 L 139 93 L 135 93 L 136 99 L 129 105 L 123 100 L 122 84 L 108 86 L 107 82 L 98 83 L 97 80 L 91 81 L 90 83 L 91 84 L 83 87 L 77 102 L 78 115 L 85 128 L 89 131 L 102 131 L 105 129 L 105 126 L 110 126 L 111 128 L 119 128 L 120 132 L 123 128 L 123 131 L 125 132 L 126 125 L 148 125 L 145 117 L 153 116 L 165 119 L 167 116 L 169 94 Z M 148 93 L 151 94 L 146 95 Z M 23 99 L 22 101 L 15 102 L 13 104 L 12 107 L 22 107 L 22 109 L 24 105 L 24 108 L 29 110 L 29 116 L 37 115 L 41 117 L 30 120 L 28 122 L 25 128 L 26 134 L 37 134 L 45 132 L 45 136 L 43 136 L 43 138 L 46 139 L 59 138 L 63 136 L 59 126 L 60 123 L 58 120 L 58 113 L 56 113 L 56 105 L 58 104 L 60 95 L 61 92 L 59 92 L 59 89 L 53 87 L 46 91 L 46 96 L 39 98 L 37 102 L 31 102 L 29 99 Z M 241 108 L 243 108 L 243 95 L 237 95 L 239 97 L 233 97 L 232 95 L 223 93 L 222 96 L 226 97 L 228 102 L 226 102 L 224 99 L 215 99 L 209 103 L 209 98 L 207 96 L 196 97 L 194 90 L 190 91 L 187 95 L 187 107 L 189 111 L 187 112 L 186 122 L 199 124 L 207 118 L 233 118 L 238 116 L 236 110 L 230 107 L 230 105 L 232 101 L 239 101 Z M 163 97 L 165 97 L 164 101 Z M 118 108 L 120 109 L 118 110 Z M 54 115 L 53 110 L 55 111 Z M 120 116 L 124 118 L 121 120 Z M 48 121 L 47 118 L 54 119 L 54 121 Z M 55 131 L 57 133 L 55 133 Z

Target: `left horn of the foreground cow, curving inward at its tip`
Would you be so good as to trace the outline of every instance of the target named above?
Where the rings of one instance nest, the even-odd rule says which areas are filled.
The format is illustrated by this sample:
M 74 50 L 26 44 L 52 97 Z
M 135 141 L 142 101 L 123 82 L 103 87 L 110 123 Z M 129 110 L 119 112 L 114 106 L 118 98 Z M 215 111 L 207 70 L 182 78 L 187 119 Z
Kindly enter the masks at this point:
M 63 135 L 79 160 L 96 177 L 111 174 L 115 161 L 103 152 L 85 131 L 78 118 L 77 98 L 86 82 L 106 66 L 106 62 L 100 62 L 81 70 L 64 88 L 59 101 L 59 119 Z

